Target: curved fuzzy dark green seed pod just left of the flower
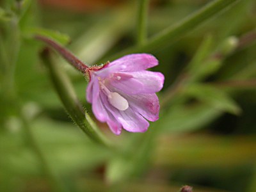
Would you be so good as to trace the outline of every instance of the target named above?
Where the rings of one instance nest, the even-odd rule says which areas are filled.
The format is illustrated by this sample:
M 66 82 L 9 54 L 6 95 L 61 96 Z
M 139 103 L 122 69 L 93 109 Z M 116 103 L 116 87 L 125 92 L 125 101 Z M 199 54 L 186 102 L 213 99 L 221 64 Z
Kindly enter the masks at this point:
M 49 49 L 42 52 L 42 60 L 49 69 L 54 88 L 58 93 L 67 113 L 72 120 L 85 132 L 92 140 L 106 147 L 111 147 L 107 138 L 100 132 L 99 128 L 93 122 L 92 118 L 83 109 L 83 106 L 76 97 L 76 93 L 72 88 L 72 84 L 68 81 L 68 77 L 56 63 L 52 61 Z

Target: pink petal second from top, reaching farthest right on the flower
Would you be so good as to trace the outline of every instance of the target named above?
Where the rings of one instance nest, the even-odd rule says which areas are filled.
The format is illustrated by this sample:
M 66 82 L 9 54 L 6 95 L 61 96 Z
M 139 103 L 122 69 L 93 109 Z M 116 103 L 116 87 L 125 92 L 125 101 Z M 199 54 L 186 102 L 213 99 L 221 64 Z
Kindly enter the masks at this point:
M 113 88 L 126 94 L 156 93 L 163 88 L 164 76 L 160 72 L 147 70 L 139 72 L 116 72 L 109 81 Z M 123 76 L 132 76 L 123 78 Z M 119 78 L 116 78 L 119 77 Z

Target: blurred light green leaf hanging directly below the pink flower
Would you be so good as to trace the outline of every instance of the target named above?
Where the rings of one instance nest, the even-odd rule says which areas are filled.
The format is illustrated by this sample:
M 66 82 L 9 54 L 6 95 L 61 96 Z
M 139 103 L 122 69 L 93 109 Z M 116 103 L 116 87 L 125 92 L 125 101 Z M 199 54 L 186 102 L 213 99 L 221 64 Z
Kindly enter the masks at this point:
M 150 127 L 152 128 L 152 127 Z M 112 184 L 138 178 L 148 168 L 154 137 L 157 129 L 148 129 L 144 134 L 130 137 L 131 142 L 122 154 L 115 154 L 109 161 L 106 179 Z

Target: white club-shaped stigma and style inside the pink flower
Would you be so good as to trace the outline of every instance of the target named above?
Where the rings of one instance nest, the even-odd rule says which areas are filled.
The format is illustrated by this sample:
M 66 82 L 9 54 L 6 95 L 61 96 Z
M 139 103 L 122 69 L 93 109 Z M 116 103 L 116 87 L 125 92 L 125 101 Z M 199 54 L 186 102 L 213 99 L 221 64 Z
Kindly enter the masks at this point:
M 102 83 L 100 78 L 98 79 L 100 88 L 102 89 L 103 93 L 108 96 L 108 101 L 113 107 L 120 111 L 125 111 L 127 108 L 129 108 L 128 101 L 124 97 L 122 97 L 119 93 L 110 92 L 109 89 L 105 86 L 104 81 Z

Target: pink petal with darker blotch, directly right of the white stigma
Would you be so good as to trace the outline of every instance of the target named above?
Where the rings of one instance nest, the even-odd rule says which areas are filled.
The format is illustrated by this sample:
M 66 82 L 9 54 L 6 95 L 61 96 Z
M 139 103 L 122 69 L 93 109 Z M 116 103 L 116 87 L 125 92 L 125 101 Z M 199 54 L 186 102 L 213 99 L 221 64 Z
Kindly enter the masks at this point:
M 129 102 L 134 111 L 155 122 L 159 118 L 159 100 L 156 93 L 140 94 L 140 95 L 125 95 L 125 99 Z

